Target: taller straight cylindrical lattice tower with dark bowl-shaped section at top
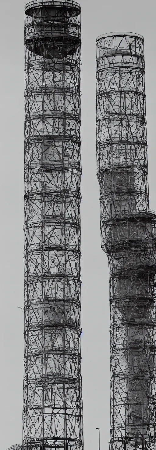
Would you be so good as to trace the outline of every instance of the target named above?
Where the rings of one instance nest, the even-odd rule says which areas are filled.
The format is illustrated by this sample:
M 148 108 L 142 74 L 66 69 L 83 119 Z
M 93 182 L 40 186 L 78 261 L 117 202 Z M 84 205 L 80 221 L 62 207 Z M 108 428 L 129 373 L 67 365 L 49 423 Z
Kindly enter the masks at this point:
M 80 6 L 25 18 L 23 449 L 82 450 Z

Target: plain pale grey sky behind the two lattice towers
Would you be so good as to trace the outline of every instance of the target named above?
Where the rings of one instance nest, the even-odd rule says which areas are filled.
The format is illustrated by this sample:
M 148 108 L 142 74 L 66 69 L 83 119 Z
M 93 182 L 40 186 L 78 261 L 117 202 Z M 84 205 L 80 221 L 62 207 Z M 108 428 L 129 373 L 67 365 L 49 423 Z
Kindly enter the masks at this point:
M 95 154 L 96 37 L 144 36 L 150 207 L 156 210 L 156 3 L 80 0 L 82 8 L 82 380 L 84 450 L 108 450 L 109 281 L 100 248 Z M 24 0 L 0 7 L 0 449 L 22 443 Z

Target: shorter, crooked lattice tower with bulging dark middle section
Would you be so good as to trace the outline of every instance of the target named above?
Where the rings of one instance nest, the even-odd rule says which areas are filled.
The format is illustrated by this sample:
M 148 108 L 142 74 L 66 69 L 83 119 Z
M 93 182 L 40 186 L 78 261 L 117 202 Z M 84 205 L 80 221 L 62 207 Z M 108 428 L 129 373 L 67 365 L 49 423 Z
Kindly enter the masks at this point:
M 97 38 L 101 247 L 110 274 L 110 449 L 156 448 L 155 215 L 149 211 L 143 37 Z

